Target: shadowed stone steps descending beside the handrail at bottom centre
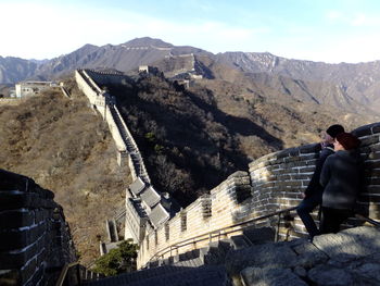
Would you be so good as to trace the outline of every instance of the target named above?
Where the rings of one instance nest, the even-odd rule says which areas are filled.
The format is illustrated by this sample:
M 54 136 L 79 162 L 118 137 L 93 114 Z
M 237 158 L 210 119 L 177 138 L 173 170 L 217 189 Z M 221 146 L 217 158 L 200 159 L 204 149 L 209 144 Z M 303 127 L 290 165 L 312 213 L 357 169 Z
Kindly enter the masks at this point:
M 212 241 L 207 247 L 150 262 L 147 269 L 87 283 L 93 286 L 144 285 L 231 285 L 225 269 L 229 252 L 274 241 L 273 228 L 248 228 L 229 239 Z

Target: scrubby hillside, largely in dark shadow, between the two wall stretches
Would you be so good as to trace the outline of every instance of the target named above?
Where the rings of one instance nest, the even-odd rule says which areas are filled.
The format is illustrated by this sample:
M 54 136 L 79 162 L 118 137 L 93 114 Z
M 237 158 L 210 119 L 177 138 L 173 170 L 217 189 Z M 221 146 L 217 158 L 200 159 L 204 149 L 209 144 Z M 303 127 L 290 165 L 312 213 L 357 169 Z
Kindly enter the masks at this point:
M 201 83 L 185 90 L 159 74 L 106 86 L 117 98 L 153 185 L 182 207 L 231 173 L 246 171 L 255 158 L 315 142 L 322 128 L 337 122 L 320 108 L 303 110 L 299 101 L 287 107 L 269 102 L 258 87 Z

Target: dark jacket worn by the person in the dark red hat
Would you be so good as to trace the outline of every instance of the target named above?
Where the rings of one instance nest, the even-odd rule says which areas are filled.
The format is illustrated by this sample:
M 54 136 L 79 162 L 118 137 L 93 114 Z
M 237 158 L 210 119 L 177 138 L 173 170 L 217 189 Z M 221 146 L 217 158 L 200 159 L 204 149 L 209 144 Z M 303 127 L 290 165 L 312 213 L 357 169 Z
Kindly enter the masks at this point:
M 352 210 L 360 187 L 360 157 L 357 151 L 338 151 L 326 159 L 320 173 L 325 187 L 322 207 Z

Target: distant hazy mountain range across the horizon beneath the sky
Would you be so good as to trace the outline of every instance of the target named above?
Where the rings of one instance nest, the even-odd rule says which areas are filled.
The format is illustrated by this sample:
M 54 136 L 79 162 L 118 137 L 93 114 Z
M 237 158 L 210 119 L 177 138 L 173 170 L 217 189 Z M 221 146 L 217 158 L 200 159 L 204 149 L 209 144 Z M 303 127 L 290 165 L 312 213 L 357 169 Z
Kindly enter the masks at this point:
M 116 69 L 128 73 L 145 64 L 157 66 L 166 76 L 190 71 L 204 78 L 242 85 L 248 92 L 253 90 L 276 101 L 291 99 L 345 112 L 379 115 L 380 61 L 328 64 L 270 53 L 213 54 L 200 48 L 178 47 L 149 37 L 116 46 L 85 45 L 45 61 L 0 57 L 0 84 L 54 79 L 75 69 Z

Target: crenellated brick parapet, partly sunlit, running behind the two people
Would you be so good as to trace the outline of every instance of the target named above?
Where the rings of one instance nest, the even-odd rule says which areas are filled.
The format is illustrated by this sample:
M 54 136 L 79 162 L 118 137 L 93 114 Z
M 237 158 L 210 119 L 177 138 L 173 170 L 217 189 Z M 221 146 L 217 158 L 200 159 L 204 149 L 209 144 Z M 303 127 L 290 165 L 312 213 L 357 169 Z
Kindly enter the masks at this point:
M 360 154 L 365 167 L 365 183 L 358 199 L 358 211 L 379 220 L 380 123 L 359 127 L 353 133 L 362 140 Z M 312 144 L 264 156 L 250 163 L 249 173 L 232 174 L 211 190 L 210 195 L 195 200 L 159 229 L 147 228 L 147 236 L 140 246 L 138 266 L 143 266 L 157 251 L 181 240 L 297 206 L 313 175 L 319 149 L 318 144 Z M 314 215 L 317 219 L 317 211 Z M 293 216 L 294 221 L 290 226 L 281 223 L 280 238 L 291 239 L 306 235 L 299 216 L 294 213 Z M 257 226 L 275 223 L 275 219 L 267 219 L 257 223 Z M 360 223 L 355 219 L 349 222 Z M 178 252 L 186 252 L 206 244 L 208 241 L 189 245 Z

